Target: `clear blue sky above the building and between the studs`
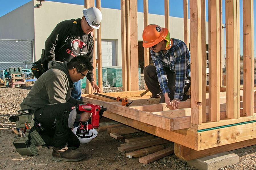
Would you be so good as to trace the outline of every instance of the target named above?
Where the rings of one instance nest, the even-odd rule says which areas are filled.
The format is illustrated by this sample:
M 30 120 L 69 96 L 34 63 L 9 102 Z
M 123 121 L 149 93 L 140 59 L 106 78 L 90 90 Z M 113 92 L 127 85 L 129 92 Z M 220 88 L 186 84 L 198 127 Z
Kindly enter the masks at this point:
M 0 0 L 0 17 L 11 12 L 12 10 L 28 3 L 31 0 Z M 72 3 L 78 5 L 84 5 L 84 0 L 48 0 L 62 3 Z M 39 3 L 39 2 L 38 2 Z M 42 2 L 44 3 L 44 2 Z M 95 1 L 96 6 L 96 1 Z M 101 7 L 120 9 L 120 0 L 101 0 Z M 225 14 L 225 1 L 223 0 L 223 14 Z M 156 8 L 157 7 L 157 8 Z M 206 0 L 206 7 L 208 7 L 208 1 Z M 256 0 L 253 2 L 254 8 L 254 24 L 256 23 Z M 138 0 L 138 12 L 143 12 L 143 0 Z M 164 15 L 164 0 L 148 0 L 148 12 L 151 14 Z M 183 18 L 183 1 L 182 0 L 170 0 L 170 16 Z M 206 20 L 208 21 L 208 9 L 206 8 Z M 240 25 L 242 24 L 242 0 L 240 0 Z M 223 15 L 223 23 L 225 23 L 225 16 Z M 240 54 L 243 54 L 243 28 L 240 27 Z M 254 25 L 254 37 L 256 35 L 256 25 Z M 1 38 L 1 37 L 0 37 Z M 254 38 L 254 49 L 256 49 L 256 40 Z M 254 50 L 254 58 L 256 58 L 256 51 Z

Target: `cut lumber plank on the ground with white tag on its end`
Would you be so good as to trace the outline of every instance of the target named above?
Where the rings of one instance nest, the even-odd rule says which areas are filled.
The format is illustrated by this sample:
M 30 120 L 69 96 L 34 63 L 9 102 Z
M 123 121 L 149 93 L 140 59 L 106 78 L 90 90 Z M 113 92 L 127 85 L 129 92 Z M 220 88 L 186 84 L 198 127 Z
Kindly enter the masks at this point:
M 158 150 L 162 150 L 162 149 L 164 149 L 164 146 L 156 145 L 156 146 L 151 146 L 148 148 L 143 148 L 140 150 L 135 150 L 133 152 L 129 152 L 129 153 L 125 154 L 125 156 L 127 158 L 138 158 L 141 156 L 146 156 L 148 154 L 152 154 L 152 153 L 157 152 Z

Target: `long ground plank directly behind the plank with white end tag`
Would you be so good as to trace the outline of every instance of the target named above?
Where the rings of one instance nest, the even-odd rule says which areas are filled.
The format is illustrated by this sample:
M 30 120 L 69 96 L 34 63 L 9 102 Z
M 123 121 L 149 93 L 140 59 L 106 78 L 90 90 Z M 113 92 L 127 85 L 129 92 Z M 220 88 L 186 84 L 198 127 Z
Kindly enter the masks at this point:
M 141 148 L 145 148 L 145 147 L 149 147 L 149 146 L 154 146 L 154 145 L 161 145 L 164 143 L 168 143 L 170 141 L 167 141 L 165 139 L 162 138 L 154 138 L 148 141 L 141 141 L 138 143 L 132 143 L 130 145 L 125 145 L 125 146 L 120 146 L 118 147 L 118 150 L 120 152 L 126 152 L 126 151 L 130 151 L 130 150 L 136 150 L 136 149 L 141 149 Z

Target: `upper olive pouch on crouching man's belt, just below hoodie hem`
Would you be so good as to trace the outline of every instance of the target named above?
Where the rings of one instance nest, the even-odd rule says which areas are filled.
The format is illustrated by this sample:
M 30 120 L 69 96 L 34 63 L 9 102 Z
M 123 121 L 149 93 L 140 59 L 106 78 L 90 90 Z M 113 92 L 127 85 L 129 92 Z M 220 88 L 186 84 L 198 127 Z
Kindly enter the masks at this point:
M 35 117 L 35 111 L 26 109 L 18 111 L 18 121 L 16 122 L 17 128 L 24 128 L 27 124 L 32 128 L 35 124 L 33 118 Z

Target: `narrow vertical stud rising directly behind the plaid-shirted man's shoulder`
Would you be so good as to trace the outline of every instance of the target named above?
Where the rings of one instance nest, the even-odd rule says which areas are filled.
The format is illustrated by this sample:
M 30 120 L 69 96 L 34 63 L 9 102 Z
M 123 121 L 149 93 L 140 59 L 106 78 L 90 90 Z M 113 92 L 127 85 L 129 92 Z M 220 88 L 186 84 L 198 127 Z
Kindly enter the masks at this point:
M 188 0 L 183 0 L 184 42 L 189 48 Z

